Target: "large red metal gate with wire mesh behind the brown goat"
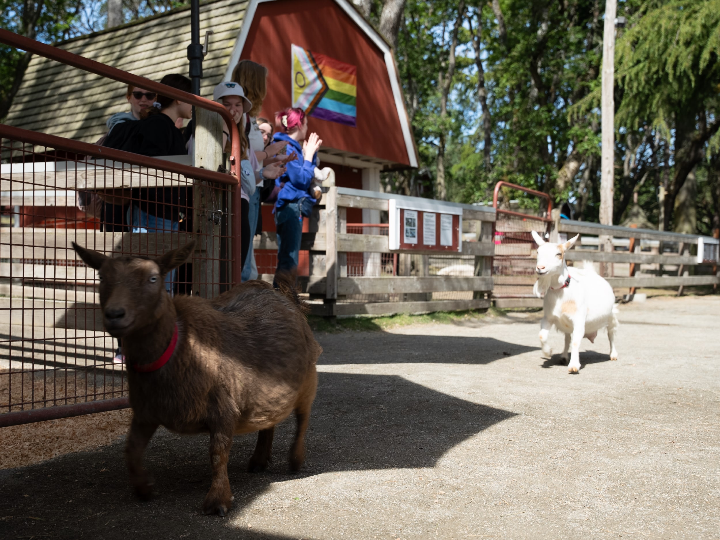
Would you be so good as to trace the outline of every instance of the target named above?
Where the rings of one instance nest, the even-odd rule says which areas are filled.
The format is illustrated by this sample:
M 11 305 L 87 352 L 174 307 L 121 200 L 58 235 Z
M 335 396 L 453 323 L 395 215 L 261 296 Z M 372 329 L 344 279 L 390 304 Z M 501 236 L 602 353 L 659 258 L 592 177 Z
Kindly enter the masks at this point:
M 0 42 L 217 112 L 230 125 L 234 176 L 0 124 L 0 427 L 126 408 L 125 366 L 114 363 L 117 343 L 103 330 L 96 272 L 71 242 L 109 256 L 158 256 L 194 238 L 197 251 L 171 275 L 171 292 L 214 297 L 239 283 L 237 125 L 208 99 L 6 30 Z M 149 208 L 157 189 L 171 193 L 162 203 L 168 219 L 154 230 L 123 223 L 126 210 Z

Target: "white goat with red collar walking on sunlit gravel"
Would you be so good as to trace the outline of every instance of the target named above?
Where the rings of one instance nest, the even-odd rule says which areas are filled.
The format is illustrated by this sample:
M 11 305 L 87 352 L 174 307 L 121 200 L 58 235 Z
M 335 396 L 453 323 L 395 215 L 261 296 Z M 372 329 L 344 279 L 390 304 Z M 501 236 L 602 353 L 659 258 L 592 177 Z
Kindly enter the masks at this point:
M 580 370 L 580 341 L 583 337 L 590 342 L 595 341 L 598 330 L 608 327 L 610 339 L 610 359 L 618 359 L 615 348 L 615 332 L 618 328 L 615 293 L 605 279 L 595 273 L 592 263 L 586 263 L 585 269 L 573 267 L 572 271 L 565 264 L 565 253 L 572 248 L 580 235 L 570 238 L 565 243 L 546 242 L 533 231 L 533 238 L 538 244 L 538 260 L 533 292 L 543 300 L 543 319 L 540 322 L 540 344 L 543 354 L 549 358 L 552 350 L 547 344 L 547 337 L 552 325 L 565 334 L 565 347 L 561 358 L 568 360 L 567 350 L 572 342 L 570 373 Z

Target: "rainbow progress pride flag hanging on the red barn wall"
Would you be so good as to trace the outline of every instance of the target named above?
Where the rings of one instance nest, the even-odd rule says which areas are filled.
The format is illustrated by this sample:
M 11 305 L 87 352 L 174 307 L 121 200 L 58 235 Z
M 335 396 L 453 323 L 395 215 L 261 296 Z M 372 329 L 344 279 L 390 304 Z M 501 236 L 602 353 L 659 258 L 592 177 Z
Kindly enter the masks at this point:
M 292 45 L 292 100 L 320 120 L 357 127 L 357 68 Z

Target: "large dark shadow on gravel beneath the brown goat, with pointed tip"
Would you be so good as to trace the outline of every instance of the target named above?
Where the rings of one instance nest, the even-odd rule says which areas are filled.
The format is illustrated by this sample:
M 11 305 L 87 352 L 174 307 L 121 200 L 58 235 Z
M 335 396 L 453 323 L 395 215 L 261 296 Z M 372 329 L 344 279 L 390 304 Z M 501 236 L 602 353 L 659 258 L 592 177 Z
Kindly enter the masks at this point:
M 454 446 L 515 415 L 397 376 L 320 373 L 319 378 L 300 474 L 287 472 L 292 423 L 277 428 L 274 461 L 265 473 L 245 471 L 256 436 L 235 438 L 228 467 L 235 495 L 231 517 L 273 482 L 325 472 L 433 467 Z M 127 487 L 120 443 L 0 471 L 0 538 L 286 538 L 200 515 L 210 487 L 207 441 L 158 432 L 146 454 L 158 492 L 150 503 L 140 503 Z

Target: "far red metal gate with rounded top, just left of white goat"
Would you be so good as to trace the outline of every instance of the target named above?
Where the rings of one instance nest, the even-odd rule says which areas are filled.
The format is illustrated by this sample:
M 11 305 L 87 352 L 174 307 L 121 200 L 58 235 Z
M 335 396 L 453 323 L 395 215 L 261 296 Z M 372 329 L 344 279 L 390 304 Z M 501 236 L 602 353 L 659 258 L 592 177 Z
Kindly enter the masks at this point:
M 498 205 L 500 189 L 503 189 L 503 203 Z M 520 192 L 525 195 L 525 209 L 511 210 L 513 200 L 510 194 Z M 528 197 L 529 196 L 529 197 Z M 546 202 L 546 204 L 545 204 Z M 495 208 L 495 256 L 492 258 L 493 297 L 498 299 L 498 307 L 521 307 L 534 305 L 532 294 L 535 282 L 535 264 L 537 244 L 531 235 L 532 230 L 544 234 L 552 223 L 550 212 L 552 200 L 549 195 L 537 192 L 509 182 L 495 184 L 492 195 L 492 207 Z M 516 300 L 510 300 L 516 299 Z M 525 300 L 523 300 L 525 299 Z

